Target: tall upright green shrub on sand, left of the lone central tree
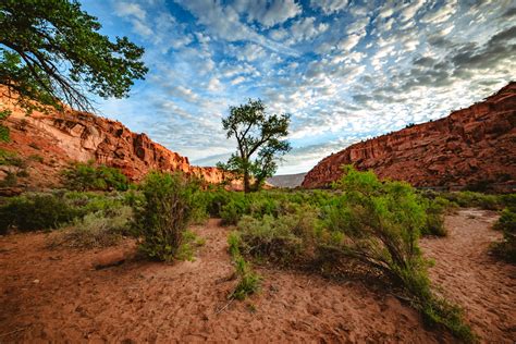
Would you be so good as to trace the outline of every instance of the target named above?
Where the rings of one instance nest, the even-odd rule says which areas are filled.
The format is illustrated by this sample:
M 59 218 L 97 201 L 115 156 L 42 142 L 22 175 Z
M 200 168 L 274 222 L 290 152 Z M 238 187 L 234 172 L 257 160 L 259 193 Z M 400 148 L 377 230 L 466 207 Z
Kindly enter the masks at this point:
M 135 230 L 147 256 L 170 261 L 177 254 L 192 219 L 197 183 L 182 173 L 152 172 L 142 184 L 145 202 L 135 208 Z

